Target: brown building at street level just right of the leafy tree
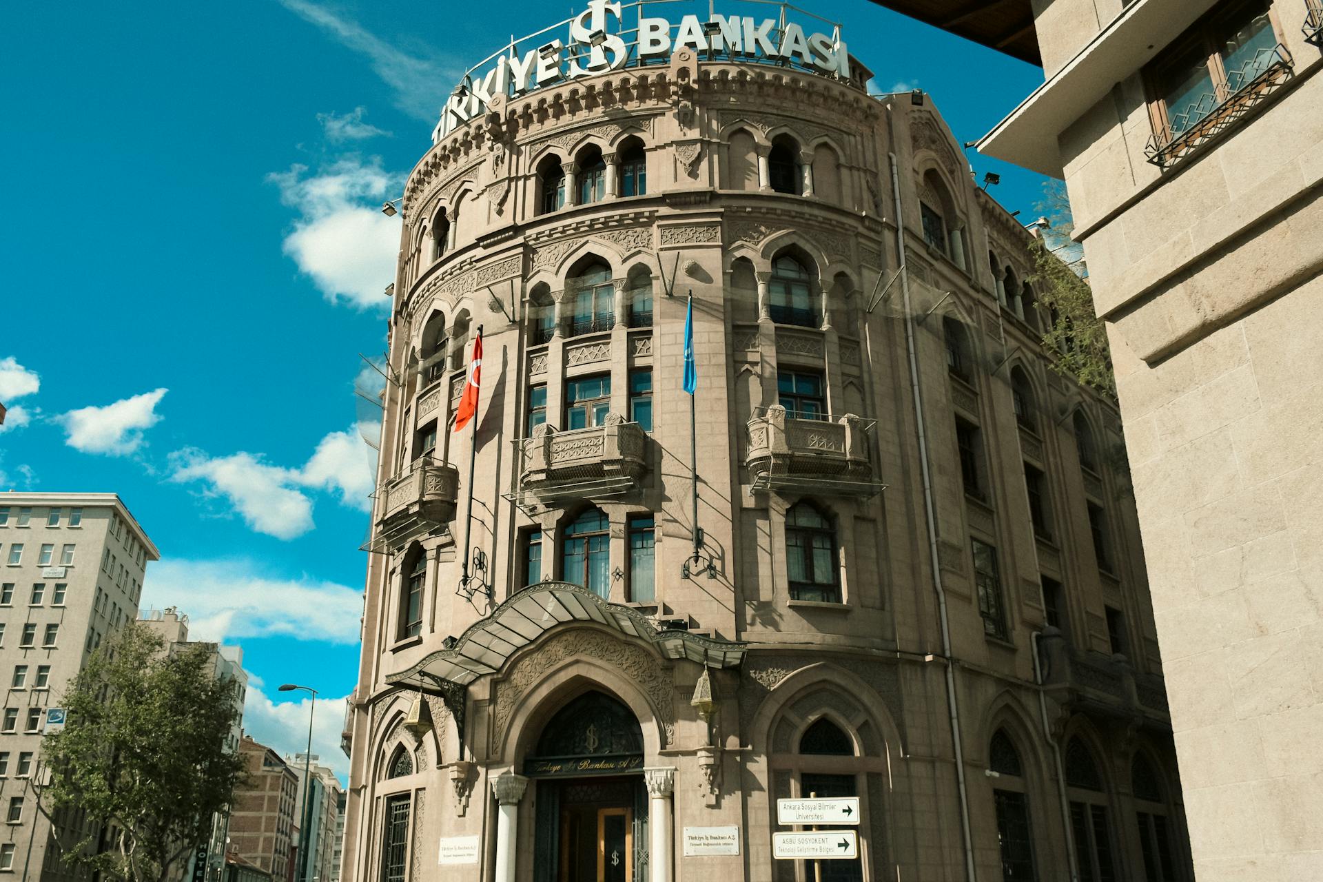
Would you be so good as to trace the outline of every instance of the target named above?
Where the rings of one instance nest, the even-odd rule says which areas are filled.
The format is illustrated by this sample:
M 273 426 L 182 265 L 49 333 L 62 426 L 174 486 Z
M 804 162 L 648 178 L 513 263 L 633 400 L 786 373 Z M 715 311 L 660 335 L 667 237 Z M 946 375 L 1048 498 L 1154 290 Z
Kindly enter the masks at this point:
M 239 742 L 249 779 L 230 803 L 229 856 L 238 856 L 274 879 L 294 882 L 299 778 L 280 755 L 250 735 Z

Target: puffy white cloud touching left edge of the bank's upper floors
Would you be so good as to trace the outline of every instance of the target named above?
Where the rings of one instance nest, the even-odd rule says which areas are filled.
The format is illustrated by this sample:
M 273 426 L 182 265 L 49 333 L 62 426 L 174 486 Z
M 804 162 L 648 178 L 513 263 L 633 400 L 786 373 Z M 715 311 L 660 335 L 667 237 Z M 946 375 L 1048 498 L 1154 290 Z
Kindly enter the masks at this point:
M 319 173 L 306 165 L 269 176 L 280 200 L 300 214 L 284 238 L 284 253 L 336 303 L 388 309 L 386 286 L 394 278 L 400 223 L 381 213 L 398 180 L 381 160 L 341 159 Z

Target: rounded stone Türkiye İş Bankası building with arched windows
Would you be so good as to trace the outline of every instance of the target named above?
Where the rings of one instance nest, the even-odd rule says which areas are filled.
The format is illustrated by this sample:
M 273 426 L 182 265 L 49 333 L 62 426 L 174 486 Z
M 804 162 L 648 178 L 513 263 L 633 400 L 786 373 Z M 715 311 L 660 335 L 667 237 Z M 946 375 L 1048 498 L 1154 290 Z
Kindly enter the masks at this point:
M 388 206 L 345 877 L 803 881 L 816 795 L 859 800 L 824 879 L 1188 879 L 1119 418 L 1049 369 L 1029 234 L 839 32 L 558 82 L 638 26 L 598 12 L 472 71 Z

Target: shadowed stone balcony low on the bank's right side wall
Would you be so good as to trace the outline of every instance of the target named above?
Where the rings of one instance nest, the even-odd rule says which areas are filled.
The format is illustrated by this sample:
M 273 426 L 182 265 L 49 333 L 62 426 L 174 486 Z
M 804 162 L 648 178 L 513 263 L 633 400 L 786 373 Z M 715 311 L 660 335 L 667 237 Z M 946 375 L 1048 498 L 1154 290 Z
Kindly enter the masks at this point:
M 1121 655 L 1077 649 L 1056 628 L 1044 629 L 1039 652 L 1044 685 L 1064 703 L 1170 725 L 1167 689 L 1160 676 L 1136 672 Z

